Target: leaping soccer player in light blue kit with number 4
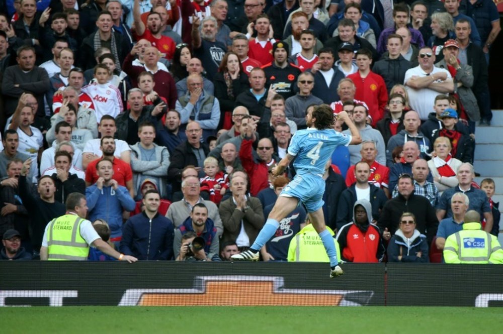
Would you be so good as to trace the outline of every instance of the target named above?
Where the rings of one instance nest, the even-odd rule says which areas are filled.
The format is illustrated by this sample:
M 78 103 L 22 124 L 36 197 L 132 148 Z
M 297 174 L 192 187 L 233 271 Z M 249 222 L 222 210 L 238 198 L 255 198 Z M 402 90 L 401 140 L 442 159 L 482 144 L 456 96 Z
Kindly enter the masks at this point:
M 297 158 L 294 162 L 297 175 L 279 195 L 255 243 L 247 251 L 233 255 L 231 257 L 233 260 L 257 261 L 259 250 L 276 233 L 279 221 L 294 210 L 299 201 L 302 201 L 307 208 L 309 220 L 319 234 L 330 260 L 330 278 L 343 274 L 332 236 L 325 228 L 322 209 L 325 182 L 322 175 L 325 163 L 330 159 L 337 146 L 360 144 L 362 140 L 358 129 L 346 112 L 339 113 L 337 118 L 346 123 L 351 130 L 351 136 L 343 135 L 332 129 L 335 119 L 328 105 L 321 104 L 313 109 L 306 115 L 309 128 L 295 133 L 288 147 L 288 154 L 281 159 L 278 166 L 273 168 L 273 174 L 280 175 L 290 165 L 290 162 Z

